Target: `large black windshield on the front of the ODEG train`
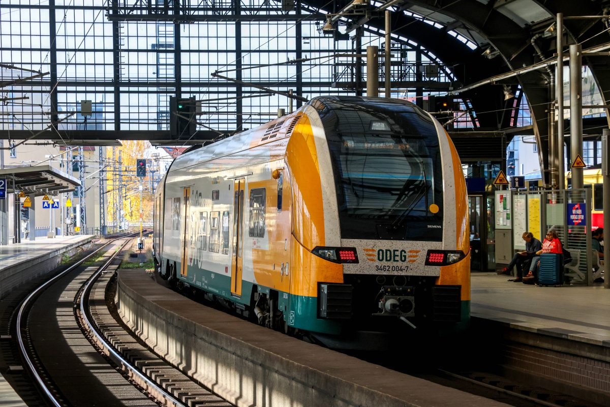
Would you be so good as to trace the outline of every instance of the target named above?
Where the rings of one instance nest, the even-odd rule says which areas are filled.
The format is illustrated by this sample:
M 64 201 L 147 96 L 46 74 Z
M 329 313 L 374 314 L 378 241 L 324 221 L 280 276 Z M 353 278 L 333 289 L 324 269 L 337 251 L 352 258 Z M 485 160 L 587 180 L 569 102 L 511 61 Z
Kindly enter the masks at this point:
M 325 125 L 343 239 L 442 240 L 436 129 L 417 108 L 399 107 L 356 110 L 356 126 L 353 111 L 334 110 L 333 124 L 342 121 L 342 113 L 351 124 L 333 126 L 330 132 Z M 358 127 L 361 131 L 354 132 Z

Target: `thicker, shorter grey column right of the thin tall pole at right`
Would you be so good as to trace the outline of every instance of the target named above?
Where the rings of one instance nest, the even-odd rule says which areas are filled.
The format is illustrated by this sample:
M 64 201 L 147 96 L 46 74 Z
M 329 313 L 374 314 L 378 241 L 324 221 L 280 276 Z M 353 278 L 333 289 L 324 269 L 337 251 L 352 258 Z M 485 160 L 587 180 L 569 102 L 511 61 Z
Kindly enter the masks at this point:
M 572 162 L 583 156 L 583 53 L 581 45 L 570 45 L 570 144 Z M 572 168 L 572 189 L 583 188 L 583 168 Z

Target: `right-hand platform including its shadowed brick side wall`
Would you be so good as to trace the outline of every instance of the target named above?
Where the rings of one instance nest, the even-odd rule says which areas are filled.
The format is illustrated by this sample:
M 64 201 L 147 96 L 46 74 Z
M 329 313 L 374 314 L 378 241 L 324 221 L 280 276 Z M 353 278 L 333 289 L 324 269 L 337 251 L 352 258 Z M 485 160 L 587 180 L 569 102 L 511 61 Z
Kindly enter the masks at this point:
M 537 287 L 473 272 L 472 340 L 515 376 L 610 405 L 610 291 L 603 284 Z M 481 345 L 482 344 L 482 345 Z M 548 388 L 548 387 L 547 387 Z

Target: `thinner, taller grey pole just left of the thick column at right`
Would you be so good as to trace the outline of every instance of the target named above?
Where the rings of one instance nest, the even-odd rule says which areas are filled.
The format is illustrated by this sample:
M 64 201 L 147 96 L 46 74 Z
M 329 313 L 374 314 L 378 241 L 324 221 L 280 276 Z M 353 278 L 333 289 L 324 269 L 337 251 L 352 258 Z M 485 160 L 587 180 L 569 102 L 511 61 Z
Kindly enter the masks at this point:
M 555 96 L 557 99 L 557 169 L 559 189 L 565 189 L 565 142 L 564 142 L 564 15 L 557 15 L 557 74 Z

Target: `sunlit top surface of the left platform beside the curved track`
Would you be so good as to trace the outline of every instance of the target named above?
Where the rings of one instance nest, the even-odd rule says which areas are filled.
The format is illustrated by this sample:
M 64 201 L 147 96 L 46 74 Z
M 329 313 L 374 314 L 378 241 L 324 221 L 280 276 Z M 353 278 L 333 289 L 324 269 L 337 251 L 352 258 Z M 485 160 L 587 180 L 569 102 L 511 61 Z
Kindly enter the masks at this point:
M 25 260 L 34 259 L 92 238 L 91 235 L 37 237 L 36 240 L 26 240 L 21 243 L 0 246 L 0 271 Z

